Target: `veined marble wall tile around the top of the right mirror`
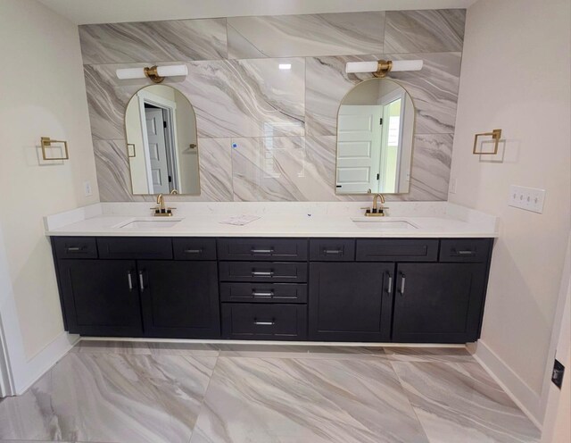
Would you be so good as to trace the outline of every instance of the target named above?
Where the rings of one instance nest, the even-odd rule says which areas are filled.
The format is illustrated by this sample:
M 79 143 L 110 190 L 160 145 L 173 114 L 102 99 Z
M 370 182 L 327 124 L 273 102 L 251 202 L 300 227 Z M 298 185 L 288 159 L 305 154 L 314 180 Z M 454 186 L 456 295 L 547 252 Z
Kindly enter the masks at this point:
M 337 112 L 343 97 L 370 73 L 347 74 L 347 62 L 378 59 L 422 59 L 422 71 L 392 72 L 409 92 L 416 109 L 417 134 L 453 133 L 458 102 L 461 53 L 377 54 L 306 59 L 306 130 L 311 136 L 336 135 Z

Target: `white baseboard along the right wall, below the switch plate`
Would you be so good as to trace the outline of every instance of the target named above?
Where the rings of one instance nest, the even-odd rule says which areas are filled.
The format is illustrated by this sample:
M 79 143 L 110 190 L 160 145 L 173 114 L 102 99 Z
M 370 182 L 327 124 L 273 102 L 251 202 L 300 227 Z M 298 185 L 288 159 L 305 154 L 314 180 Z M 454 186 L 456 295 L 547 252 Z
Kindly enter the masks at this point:
M 542 429 L 541 402 L 540 396 L 531 389 L 524 380 L 513 372 L 496 353 L 492 351 L 482 340 L 476 344 L 476 361 L 481 364 L 486 372 L 490 374 L 503 390 L 509 395 L 514 403 L 524 412 L 527 417 L 534 422 L 540 430 Z

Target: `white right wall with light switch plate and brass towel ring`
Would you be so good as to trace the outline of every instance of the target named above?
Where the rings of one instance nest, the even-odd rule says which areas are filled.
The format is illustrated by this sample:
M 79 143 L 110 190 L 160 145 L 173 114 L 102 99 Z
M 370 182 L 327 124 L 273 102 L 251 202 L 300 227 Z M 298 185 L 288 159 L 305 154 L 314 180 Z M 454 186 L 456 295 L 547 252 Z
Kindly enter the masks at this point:
M 498 357 L 501 381 L 538 422 L 571 220 L 569 6 L 468 8 L 451 168 L 452 203 L 501 217 L 477 352 Z M 495 128 L 506 139 L 503 162 L 472 155 L 474 134 Z M 546 189 L 543 213 L 509 207 L 510 184 Z

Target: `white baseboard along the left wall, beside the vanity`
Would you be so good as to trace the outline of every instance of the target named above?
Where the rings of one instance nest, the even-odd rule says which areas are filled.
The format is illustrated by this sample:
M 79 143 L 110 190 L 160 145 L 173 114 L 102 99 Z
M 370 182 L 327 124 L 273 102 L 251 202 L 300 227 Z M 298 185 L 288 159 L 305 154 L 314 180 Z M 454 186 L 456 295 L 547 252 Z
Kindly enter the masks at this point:
M 24 368 L 19 368 L 19 377 L 14 380 L 16 395 L 20 396 L 26 392 L 54 364 L 60 361 L 63 355 L 66 355 L 78 341 L 79 335 L 68 334 L 64 331 L 37 355 L 29 359 Z

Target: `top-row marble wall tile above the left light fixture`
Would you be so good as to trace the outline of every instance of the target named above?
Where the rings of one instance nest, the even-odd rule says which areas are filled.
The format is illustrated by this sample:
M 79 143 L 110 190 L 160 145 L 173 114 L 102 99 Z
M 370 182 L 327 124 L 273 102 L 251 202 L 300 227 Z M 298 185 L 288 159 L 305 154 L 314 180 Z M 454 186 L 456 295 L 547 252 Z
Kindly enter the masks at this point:
M 79 26 L 84 64 L 214 60 L 228 54 L 225 19 Z

